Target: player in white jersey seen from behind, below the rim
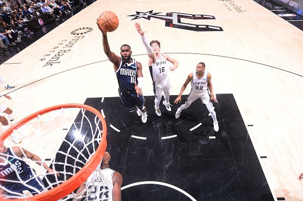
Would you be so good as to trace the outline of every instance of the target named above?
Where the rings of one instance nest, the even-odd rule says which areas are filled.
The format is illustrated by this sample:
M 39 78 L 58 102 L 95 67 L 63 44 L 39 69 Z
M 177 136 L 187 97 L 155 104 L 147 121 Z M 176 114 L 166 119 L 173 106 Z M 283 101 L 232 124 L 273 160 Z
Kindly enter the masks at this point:
M 92 193 L 85 200 L 121 201 L 122 176 L 117 171 L 109 168 L 110 159 L 111 155 L 105 152 L 100 169 L 94 170 L 87 179 L 86 184 L 82 184 L 78 188 L 76 192 L 77 198 L 74 198 L 73 201 L 80 201 L 87 191 Z

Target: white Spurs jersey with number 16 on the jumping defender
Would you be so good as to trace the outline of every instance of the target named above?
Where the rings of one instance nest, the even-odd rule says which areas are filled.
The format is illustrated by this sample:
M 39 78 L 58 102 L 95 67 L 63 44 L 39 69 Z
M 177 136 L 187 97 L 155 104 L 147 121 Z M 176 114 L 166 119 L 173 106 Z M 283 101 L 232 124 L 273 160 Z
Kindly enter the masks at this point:
M 157 56 L 156 62 L 152 67 L 152 78 L 154 82 L 164 81 L 168 77 L 167 61 L 160 53 L 160 58 Z

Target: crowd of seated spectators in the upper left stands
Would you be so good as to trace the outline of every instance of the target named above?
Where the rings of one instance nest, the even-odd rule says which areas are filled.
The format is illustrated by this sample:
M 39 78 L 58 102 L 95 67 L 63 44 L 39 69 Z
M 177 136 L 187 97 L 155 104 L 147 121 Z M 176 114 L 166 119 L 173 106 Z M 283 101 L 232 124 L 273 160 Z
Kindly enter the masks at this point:
M 32 18 L 47 13 L 58 20 L 80 4 L 86 5 L 83 0 L 0 0 L 0 53 L 33 34 L 27 24 Z

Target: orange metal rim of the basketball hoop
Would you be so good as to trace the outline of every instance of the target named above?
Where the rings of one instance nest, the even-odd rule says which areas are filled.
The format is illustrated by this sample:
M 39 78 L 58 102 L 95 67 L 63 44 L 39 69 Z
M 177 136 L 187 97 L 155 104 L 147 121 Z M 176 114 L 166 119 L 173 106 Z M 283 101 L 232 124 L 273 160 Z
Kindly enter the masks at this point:
M 96 150 L 95 154 L 92 156 L 92 158 L 84 165 L 82 169 L 78 171 L 77 174 L 69 178 L 67 181 L 64 183 L 60 184 L 59 186 L 56 186 L 53 189 L 50 189 L 46 192 L 43 192 L 41 194 L 37 194 L 31 197 L 26 197 L 26 198 L 19 198 L 19 199 L 4 199 L 4 200 L 12 200 L 12 201 L 17 201 L 17 200 L 58 200 L 65 195 L 71 193 L 75 189 L 77 189 L 83 182 L 87 180 L 87 178 L 92 174 L 92 172 L 96 169 L 100 161 L 102 160 L 106 147 L 107 147 L 107 141 L 106 141 L 106 134 L 107 134 L 107 127 L 106 127 L 106 122 L 102 116 L 102 114 L 95 108 L 84 105 L 84 104 L 78 104 L 78 103 L 68 103 L 68 104 L 61 104 L 61 105 L 55 105 L 52 107 L 48 107 L 45 109 L 42 109 L 40 111 L 37 111 L 30 116 L 22 119 L 18 123 L 16 123 L 14 126 L 9 128 L 6 132 L 4 132 L 0 136 L 0 141 L 4 141 L 10 134 L 13 132 L 13 130 L 18 129 L 22 125 L 26 124 L 27 122 L 35 119 L 38 114 L 45 114 L 50 111 L 62 109 L 62 108 L 84 108 L 88 111 L 91 111 L 97 115 L 97 117 L 100 119 L 102 123 L 102 128 L 103 128 L 103 134 L 102 134 L 102 139 L 100 141 L 100 145 L 98 146 L 98 149 Z

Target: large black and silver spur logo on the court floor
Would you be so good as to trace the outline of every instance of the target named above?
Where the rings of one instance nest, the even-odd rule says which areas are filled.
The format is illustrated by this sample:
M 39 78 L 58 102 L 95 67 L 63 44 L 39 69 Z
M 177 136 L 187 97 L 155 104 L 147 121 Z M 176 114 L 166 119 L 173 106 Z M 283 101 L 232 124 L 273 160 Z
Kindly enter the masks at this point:
M 220 26 L 213 26 L 213 25 L 205 25 L 205 24 L 191 24 L 181 22 L 181 19 L 216 19 L 212 15 L 193 15 L 187 13 L 166 13 L 166 15 L 159 15 L 159 13 L 153 13 L 153 10 L 142 13 L 136 11 L 137 14 L 135 15 L 128 15 L 133 16 L 134 19 L 144 18 L 150 20 L 150 18 L 161 19 L 165 21 L 165 26 L 173 27 L 173 28 L 181 28 L 183 30 L 190 30 L 195 32 L 211 32 L 211 31 L 223 31 Z

